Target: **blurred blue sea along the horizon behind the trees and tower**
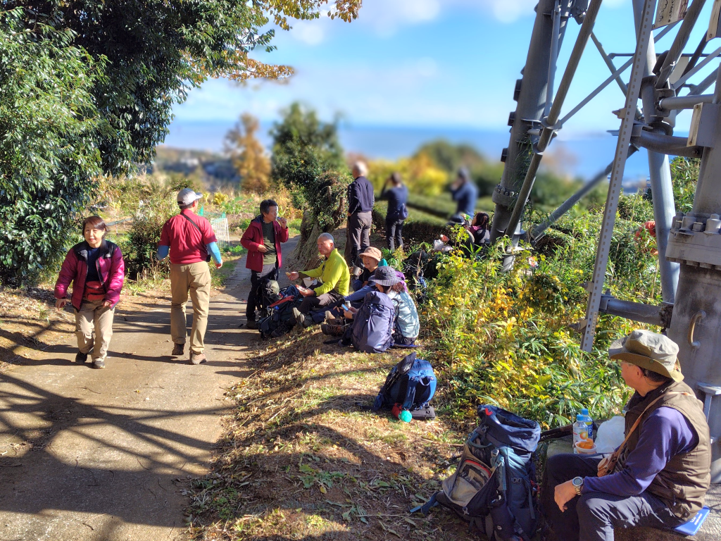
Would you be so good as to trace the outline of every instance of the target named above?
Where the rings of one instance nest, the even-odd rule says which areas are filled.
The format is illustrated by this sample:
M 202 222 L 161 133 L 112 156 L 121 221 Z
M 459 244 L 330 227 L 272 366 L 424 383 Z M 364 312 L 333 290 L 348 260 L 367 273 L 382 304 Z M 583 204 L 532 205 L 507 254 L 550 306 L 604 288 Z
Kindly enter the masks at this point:
M 167 146 L 220 152 L 225 133 L 233 122 L 180 122 L 170 125 L 165 139 Z M 268 131 L 272 125 L 262 123 L 259 138 L 270 147 Z M 501 151 L 508 146 L 508 131 L 473 130 L 469 128 L 416 128 L 389 126 L 353 126 L 341 124 L 340 141 L 347 152 L 363 154 L 368 158 L 398 159 L 410 156 L 422 144 L 443 138 L 451 143 L 475 146 L 490 160 L 500 159 Z M 603 170 L 614 157 L 616 138 L 609 133 L 587 133 L 577 138 L 559 135 L 549 146 L 544 157 L 552 170 L 589 179 Z M 626 163 L 624 181 L 637 182 L 648 176 L 648 162 L 644 151 L 637 152 Z

